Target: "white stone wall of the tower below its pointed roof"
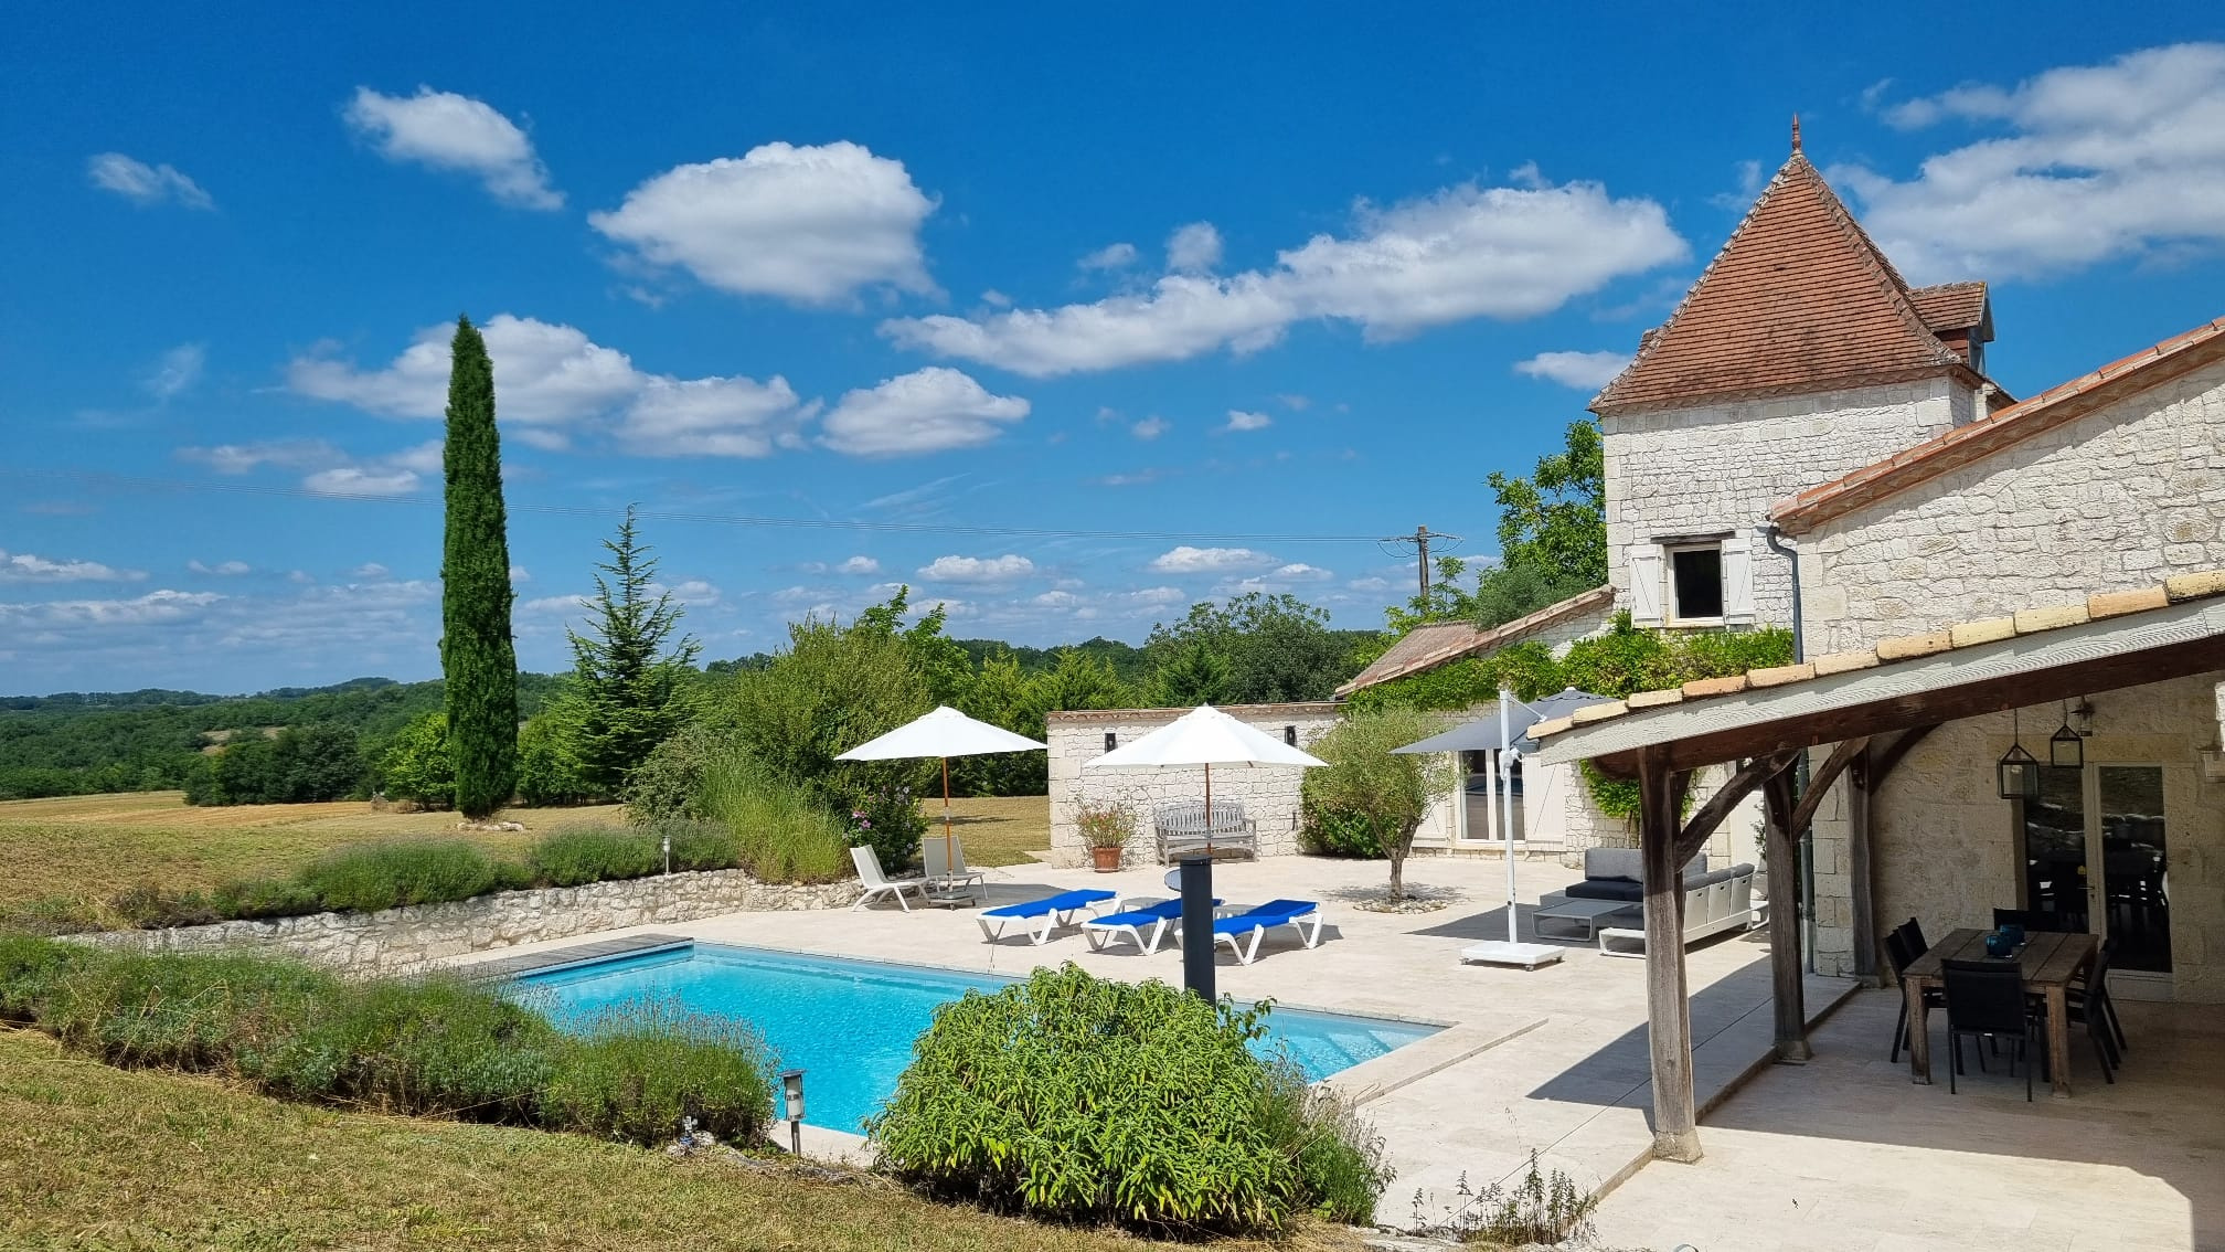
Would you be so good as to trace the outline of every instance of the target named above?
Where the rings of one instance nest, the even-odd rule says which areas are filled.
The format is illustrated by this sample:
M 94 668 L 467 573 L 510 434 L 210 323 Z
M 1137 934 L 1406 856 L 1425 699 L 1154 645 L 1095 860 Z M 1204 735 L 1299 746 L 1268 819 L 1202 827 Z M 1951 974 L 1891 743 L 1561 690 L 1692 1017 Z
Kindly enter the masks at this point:
M 1927 379 L 1602 419 L 1615 601 L 1631 606 L 1633 546 L 1731 532 L 1751 555 L 1753 619 L 1789 626 L 1791 573 L 1760 535 L 1769 508 L 1960 426 L 1974 408 L 1969 388 Z

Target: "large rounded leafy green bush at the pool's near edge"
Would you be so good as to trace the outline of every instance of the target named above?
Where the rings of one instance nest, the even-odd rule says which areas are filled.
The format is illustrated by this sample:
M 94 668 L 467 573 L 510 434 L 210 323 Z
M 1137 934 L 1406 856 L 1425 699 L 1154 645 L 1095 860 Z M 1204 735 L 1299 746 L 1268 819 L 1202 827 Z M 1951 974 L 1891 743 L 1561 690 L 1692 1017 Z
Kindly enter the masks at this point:
M 1181 1234 L 1366 1219 L 1391 1181 L 1380 1143 L 1250 1054 L 1266 1016 L 1037 969 L 943 1005 L 868 1129 L 912 1185 L 1003 1212 Z

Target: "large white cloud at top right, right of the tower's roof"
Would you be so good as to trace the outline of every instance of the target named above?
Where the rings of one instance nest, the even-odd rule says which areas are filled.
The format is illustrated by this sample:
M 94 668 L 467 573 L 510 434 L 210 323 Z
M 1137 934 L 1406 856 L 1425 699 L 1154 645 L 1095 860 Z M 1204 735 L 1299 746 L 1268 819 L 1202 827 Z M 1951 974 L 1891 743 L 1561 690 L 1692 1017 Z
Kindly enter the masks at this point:
M 2000 131 L 1927 158 L 1909 180 L 1829 172 L 1911 281 L 2036 278 L 2225 245 L 2225 45 L 1956 87 L 1885 118 Z

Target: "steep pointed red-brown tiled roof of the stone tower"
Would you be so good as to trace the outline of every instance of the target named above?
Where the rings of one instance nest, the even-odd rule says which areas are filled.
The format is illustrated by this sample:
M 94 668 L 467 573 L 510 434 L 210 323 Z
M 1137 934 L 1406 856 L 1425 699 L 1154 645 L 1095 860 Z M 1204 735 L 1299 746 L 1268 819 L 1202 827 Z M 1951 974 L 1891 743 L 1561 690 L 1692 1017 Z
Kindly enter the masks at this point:
M 1949 287 L 1927 292 L 1940 292 L 1931 296 L 1940 316 L 1960 316 L 1969 299 L 1949 296 Z M 1878 245 L 1793 151 L 1684 303 L 1591 408 L 1606 417 L 1969 374 L 1936 330 Z

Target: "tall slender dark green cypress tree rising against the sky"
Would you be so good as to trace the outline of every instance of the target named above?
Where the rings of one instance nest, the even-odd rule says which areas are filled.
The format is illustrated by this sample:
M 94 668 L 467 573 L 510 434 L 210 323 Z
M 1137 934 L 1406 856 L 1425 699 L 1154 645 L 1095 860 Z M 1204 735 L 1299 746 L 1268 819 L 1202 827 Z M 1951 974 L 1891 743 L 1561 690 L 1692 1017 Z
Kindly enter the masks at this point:
M 518 655 L 510 639 L 510 537 L 494 363 L 472 319 L 456 319 L 447 374 L 447 539 L 441 550 L 441 673 L 456 809 L 481 820 L 518 780 Z

